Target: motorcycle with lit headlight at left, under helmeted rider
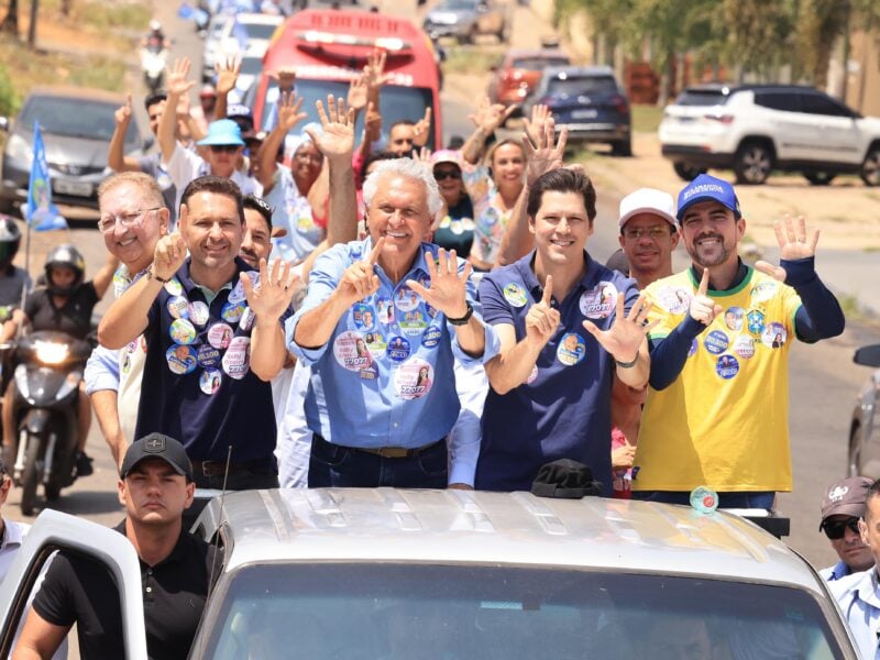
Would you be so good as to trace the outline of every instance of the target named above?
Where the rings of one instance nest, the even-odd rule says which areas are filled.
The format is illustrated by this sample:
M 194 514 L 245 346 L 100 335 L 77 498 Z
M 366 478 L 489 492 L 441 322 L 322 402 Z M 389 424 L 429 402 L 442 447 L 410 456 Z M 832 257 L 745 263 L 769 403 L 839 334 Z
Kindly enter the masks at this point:
M 12 479 L 21 513 L 33 514 L 42 483 L 46 499 L 61 497 L 76 481 L 79 382 L 91 344 L 55 331 L 34 332 L 14 348 L 16 441 Z

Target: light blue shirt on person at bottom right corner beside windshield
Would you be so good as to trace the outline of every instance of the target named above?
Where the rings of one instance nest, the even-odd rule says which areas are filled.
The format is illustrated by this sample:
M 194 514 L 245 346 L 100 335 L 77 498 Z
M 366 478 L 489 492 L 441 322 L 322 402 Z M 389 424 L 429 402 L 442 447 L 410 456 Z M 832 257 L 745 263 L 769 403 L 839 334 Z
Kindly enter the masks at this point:
M 828 584 L 856 641 L 859 656 L 865 660 L 880 660 L 878 632 L 880 631 L 880 596 L 877 570 L 853 573 Z

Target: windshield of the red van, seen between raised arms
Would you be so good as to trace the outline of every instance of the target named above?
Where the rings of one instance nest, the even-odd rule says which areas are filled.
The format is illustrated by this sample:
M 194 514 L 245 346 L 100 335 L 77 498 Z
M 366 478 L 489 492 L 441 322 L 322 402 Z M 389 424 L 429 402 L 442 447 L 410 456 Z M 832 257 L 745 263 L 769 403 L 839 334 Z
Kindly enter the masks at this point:
M 315 102 L 318 100 L 327 102 L 327 96 L 332 94 L 334 97 L 342 97 L 343 99 L 349 94 L 348 81 L 342 80 L 309 80 L 307 78 L 297 78 L 296 80 L 297 97 L 302 98 L 302 107 L 300 111 L 308 113 L 308 119 L 302 120 L 297 124 L 297 129 L 301 129 L 308 122 L 319 122 L 318 111 L 315 109 Z M 266 120 L 274 103 L 278 99 L 278 86 L 273 80 L 266 91 L 266 102 L 263 106 L 263 120 L 260 124 L 265 129 Z M 248 99 L 250 100 L 250 99 Z M 400 87 L 396 85 L 386 85 L 382 88 L 382 96 L 380 97 L 380 110 L 382 112 L 382 139 L 387 141 L 388 130 L 395 122 L 400 120 L 418 121 L 425 117 L 425 108 L 431 105 L 431 91 L 421 87 Z M 250 103 L 253 108 L 253 103 Z M 355 135 L 360 135 L 363 130 L 364 113 L 361 112 L 358 117 L 355 124 Z M 428 147 L 435 148 L 433 145 L 433 131 L 428 139 Z

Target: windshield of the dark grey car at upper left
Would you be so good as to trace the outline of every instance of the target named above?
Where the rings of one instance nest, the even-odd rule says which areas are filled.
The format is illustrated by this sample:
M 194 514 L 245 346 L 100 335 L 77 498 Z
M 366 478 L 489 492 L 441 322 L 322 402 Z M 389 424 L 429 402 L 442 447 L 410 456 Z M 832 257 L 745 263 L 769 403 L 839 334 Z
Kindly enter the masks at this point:
M 25 103 L 19 116 L 21 128 L 33 129 L 40 122 L 43 133 L 68 138 L 87 138 L 110 142 L 116 129 L 113 112 L 117 106 L 86 98 L 35 96 Z M 138 142 L 135 122 L 129 124 L 125 144 Z

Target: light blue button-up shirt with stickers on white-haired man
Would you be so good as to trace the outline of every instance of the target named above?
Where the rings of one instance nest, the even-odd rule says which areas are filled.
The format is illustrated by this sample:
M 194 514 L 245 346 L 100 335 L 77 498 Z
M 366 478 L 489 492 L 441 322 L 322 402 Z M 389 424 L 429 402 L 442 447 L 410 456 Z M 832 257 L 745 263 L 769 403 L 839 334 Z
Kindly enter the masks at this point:
M 375 265 L 378 292 L 342 315 L 324 345 L 299 346 L 294 336 L 302 315 L 327 300 L 345 268 L 371 250 L 366 239 L 336 245 L 319 256 L 309 275 L 306 300 L 286 323 L 288 348 L 311 366 L 306 421 L 312 432 L 344 447 L 421 447 L 446 437 L 459 416 L 454 360 L 485 364 L 498 352 L 498 338 L 483 323 L 483 355 L 471 358 L 461 350 L 443 314 L 406 285 L 415 279 L 429 286 L 424 253 L 437 256 L 438 246 L 422 243 L 399 283 L 394 284 Z M 459 260 L 459 273 L 463 268 L 464 261 Z M 471 282 L 466 298 L 482 323 Z

